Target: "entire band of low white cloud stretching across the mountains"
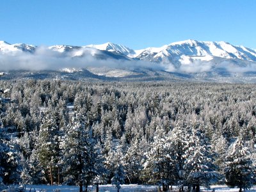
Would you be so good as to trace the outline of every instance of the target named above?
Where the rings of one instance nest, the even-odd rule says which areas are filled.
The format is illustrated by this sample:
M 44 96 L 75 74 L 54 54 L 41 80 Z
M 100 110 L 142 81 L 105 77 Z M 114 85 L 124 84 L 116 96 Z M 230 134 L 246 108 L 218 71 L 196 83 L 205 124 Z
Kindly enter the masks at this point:
M 240 62 L 240 63 L 239 63 Z M 147 67 L 168 72 L 198 73 L 211 72 L 216 68 L 223 68 L 230 73 L 256 72 L 256 63 L 250 61 L 225 60 L 221 58 L 202 61 L 192 58 L 181 58 L 172 63 L 164 60 L 162 63 L 152 63 L 138 60 L 116 60 L 106 56 L 97 49 L 80 49 L 67 52 L 58 52 L 48 47 L 38 47 L 35 52 L 1 52 L 0 71 L 10 70 L 60 70 L 62 68 L 109 67 L 136 68 Z

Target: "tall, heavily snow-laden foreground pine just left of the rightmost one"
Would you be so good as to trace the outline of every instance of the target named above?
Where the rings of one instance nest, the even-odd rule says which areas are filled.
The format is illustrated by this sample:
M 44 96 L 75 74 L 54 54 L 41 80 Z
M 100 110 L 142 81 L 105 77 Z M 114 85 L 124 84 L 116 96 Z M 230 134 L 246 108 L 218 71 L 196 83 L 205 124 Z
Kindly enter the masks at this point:
M 191 136 L 189 136 L 188 149 L 184 154 L 185 182 L 197 192 L 200 186 L 209 188 L 212 182 L 218 180 L 218 173 L 214 165 L 214 157 L 208 138 L 194 120 L 191 122 Z

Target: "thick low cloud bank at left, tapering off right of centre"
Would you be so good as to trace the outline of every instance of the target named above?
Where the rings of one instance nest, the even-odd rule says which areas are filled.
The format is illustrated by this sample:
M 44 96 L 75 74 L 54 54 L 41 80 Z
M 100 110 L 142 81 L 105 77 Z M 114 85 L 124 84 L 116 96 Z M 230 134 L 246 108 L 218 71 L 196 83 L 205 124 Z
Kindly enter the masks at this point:
M 1 52 L 0 70 L 60 70 L 61 68 L 110 67 L 129 68 L 150 67 L 164 69 L 160 64 L 136 60 L 116 60 L 114 58 L 97 58 L 97 49 L 84 49 L 69 52 L 52 51 L 47 47 L 38 47 L 35 52 Z

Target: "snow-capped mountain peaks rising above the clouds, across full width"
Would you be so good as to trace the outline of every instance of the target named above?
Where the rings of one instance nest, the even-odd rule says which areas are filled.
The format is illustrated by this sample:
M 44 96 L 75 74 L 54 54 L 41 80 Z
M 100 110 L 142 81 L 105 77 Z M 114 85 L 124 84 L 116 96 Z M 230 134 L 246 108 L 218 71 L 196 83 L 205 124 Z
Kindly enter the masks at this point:
M 0 51 L 3 53 L 13 51 L 35 52 L 38 47 L 28 44 L 8 44 L 0 41 Z M 106 43 L 100 45 L 53 45 L 48 47 L 52 51 L 61 53 L 74 52 L 74 55 L 81 56 L 83 51 L 91 51 L 95 55 L 95 49 L 109 56 L 120 56 L 152 62 L 170 61 L 177 62 L 180 60 L 192 59 L 209 61 L 212 58 L 225 58 L 234 60 L 256 61 L 256 51 L 244 46 L 231 45 L 227 42 L 200 42 L 196 40 L 185 40 L 174 42 L 162 47 L 148 47 L 141 50 L 133 50 L 124 45 Z M 99 53 L 98 52 L 98 53 Z M 107 52 L 107 53 L 106 53 Z M 77 54 L 76 54 L 77 53 Z M 109 54 L 112 53 L 112 54 Z M 71 54 L 72 56 L 72 54 Z

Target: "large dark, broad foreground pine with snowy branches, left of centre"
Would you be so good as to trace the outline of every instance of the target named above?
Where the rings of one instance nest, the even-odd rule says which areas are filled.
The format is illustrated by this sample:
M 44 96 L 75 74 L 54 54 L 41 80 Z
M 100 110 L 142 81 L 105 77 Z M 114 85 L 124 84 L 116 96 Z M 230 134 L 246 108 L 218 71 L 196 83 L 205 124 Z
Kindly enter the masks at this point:
M 62 143 L 65 182 L 76 182 L 80 191 L 84 185 L 87 191 L 96 177 L 106 175 L 100 144 L 93 138 L 92 127 L 86 125 L 83 115 L 77 113 L 72 118 Z

